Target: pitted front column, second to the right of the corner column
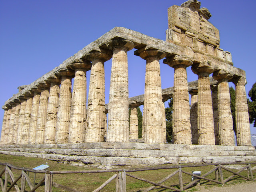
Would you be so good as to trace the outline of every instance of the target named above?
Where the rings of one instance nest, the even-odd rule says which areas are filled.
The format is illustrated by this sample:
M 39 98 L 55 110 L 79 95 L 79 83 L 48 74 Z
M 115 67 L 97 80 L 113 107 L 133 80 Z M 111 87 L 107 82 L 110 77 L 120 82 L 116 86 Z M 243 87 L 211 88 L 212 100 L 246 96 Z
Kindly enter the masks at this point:
M 192 65 L 185 58 L 168 58 L 164 63 L 174 68 L 173 140 L 175 144 L 191 144 L 190 106 L 186 68 Z

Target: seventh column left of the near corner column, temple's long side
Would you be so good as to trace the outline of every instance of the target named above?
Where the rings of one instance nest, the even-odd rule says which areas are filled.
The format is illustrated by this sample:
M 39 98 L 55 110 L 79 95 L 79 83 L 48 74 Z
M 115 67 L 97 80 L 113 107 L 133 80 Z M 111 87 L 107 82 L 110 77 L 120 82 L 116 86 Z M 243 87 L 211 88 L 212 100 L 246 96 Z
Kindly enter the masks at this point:
M 30 116 L 32 110 L 32 102 L 33 102 L 33 95 L 30 93 L 25 94 L 27 98 L 25 112 L 24 112 L 24 123 L 22 128 L 22 135 L 21 140 L 22 144 L 28 144 L 28 132 L 29 132 L 29 124 L 30 124 Z

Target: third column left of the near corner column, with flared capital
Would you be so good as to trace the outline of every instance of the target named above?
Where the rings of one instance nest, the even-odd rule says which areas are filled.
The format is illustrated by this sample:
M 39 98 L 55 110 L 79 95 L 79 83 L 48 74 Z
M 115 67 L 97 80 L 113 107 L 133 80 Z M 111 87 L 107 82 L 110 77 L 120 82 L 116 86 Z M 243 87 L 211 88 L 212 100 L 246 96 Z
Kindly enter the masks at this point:
M 61 84 L 55 141 L 56 143 L 68 143 L 70 108 L 72 97 L 71 80 L 74 77 L 74 72 L 61 69 L 56 74 L 58 76 L 61 76 Z

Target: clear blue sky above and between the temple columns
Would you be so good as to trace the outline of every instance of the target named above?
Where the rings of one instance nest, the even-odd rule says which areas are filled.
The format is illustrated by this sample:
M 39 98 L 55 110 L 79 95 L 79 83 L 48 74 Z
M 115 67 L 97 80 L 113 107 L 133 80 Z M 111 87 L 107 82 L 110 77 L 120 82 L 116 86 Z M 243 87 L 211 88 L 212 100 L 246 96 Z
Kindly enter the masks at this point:
M 115 26 L 165 40 L 167 8 L 185 0 L 0 0 L 0 105 Z M 220 48 L 246 71 L 246 92 L 256 82 L 255 0 L 201 0 L 220 30 Z M 145 60 L 128 52 L 129 96 L 144 94 Z M 105 63 L 108 102 L 111 60 Z M 162 88 L 173 68 L 160 63 Z M 90 72 L 87 73 L 88 81 Z M 197 76 L 188 68 L 188 81 Z M 231 86 L 231 84 L 230 84 Z M 166 102 L 167 103 L 167 102 Z M 0 127 L 4 110 L 0 110 Z M 256 128 L 251 125 L 253 134 Z

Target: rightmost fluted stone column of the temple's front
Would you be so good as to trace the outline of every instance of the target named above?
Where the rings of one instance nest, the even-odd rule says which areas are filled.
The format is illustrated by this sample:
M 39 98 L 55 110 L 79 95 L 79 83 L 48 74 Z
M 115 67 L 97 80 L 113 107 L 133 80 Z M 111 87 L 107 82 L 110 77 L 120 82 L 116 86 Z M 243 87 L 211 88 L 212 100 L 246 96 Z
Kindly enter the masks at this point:
M 233 80 L 236 86 L 236 142 L 239 146 L 251 146 L 251 132 L 246 98 L 246 78 Z

